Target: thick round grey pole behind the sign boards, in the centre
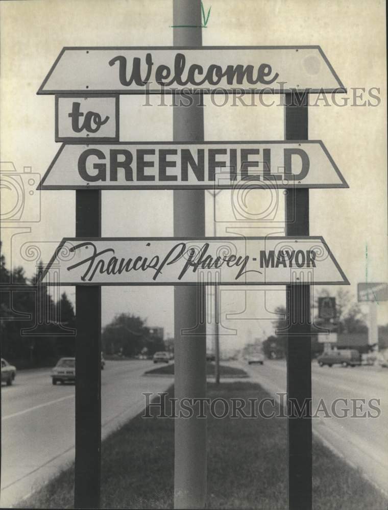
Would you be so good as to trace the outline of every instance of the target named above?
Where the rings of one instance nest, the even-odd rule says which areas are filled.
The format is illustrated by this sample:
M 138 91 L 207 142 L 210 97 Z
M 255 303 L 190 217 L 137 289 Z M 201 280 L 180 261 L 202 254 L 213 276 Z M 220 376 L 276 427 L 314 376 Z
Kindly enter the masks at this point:
M 201 46 L 200 0 L 174 0 L 174 45 Z M 181 27 L 186 25 L 186 27 Z M 189 25 L 189 27 L 187 27 Z M 195 25 L 194 27 L 192 25 Z M 174 141 L 203 141 L 202 96 L 190 106 L 176 95 Z M 181 106 L 180 106 L 181 103 Z M 205 192 L 175 190 L 174 236 L 205 236 Z M 174 287 L 175 397 L 206 396 L 205 287 Z M 202 319 L 200 319 L 202 317 Z M 193 335 L 182 334 L 193 329 Z M 179 406 L 178 406 L 179 410 Z M 204 508 L 206 500 L 206 420 L 175 420 L 175 508 Z

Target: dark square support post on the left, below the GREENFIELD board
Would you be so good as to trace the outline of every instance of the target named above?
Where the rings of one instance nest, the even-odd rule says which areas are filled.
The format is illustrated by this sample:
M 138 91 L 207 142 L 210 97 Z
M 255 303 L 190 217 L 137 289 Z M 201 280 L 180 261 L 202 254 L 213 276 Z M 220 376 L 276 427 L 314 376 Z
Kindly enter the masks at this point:
M 101 236 L 101 191 L 76 191 L 76 237 Z M 76 286 L 75 508 L 100 507 L 101 286 Z

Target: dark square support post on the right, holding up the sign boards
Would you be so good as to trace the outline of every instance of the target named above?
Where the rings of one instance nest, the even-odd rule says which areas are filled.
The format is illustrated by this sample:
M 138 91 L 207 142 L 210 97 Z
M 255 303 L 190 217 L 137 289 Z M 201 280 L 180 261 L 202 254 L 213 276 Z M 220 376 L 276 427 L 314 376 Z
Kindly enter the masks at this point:
M 285 94 L 285 139 L 308 139 L 308 95 Z M 288 189 L 285 200 L 287 236 L 309 235 L 308 189 Z M 288 316 L 287 397 L 299 409 L 311 403 L 311 330 L 309 285 L 286 286 Z M 292 406 L 290 410 L 293 412 Z M 312 504 L 311 412 L 287 420 L 289 510 L 310 510 Z

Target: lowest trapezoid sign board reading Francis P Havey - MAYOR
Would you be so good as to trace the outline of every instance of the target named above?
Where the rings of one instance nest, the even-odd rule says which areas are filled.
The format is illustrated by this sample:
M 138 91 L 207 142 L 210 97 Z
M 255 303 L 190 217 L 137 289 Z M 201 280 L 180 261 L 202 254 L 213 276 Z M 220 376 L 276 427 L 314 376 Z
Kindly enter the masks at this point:
M 64 238 L 47 285 L 347 285 L 322 237 Z

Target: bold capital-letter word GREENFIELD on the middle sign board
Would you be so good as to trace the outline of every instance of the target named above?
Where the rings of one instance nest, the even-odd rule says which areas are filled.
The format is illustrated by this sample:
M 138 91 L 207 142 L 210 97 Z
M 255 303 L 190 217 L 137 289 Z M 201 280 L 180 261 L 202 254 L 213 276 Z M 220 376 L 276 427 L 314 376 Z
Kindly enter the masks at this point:
M 246 179 L 300 182 L 308 174 L 310 160 L 301 148 L 280 144 L 247 145 L 94 146 L 81 152 L 78 172 L 87 183 L 138 184 L 206 184 L 214 183 L 219 174 L 229 183 Z

